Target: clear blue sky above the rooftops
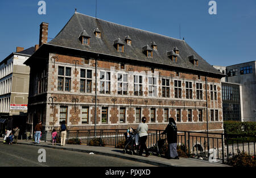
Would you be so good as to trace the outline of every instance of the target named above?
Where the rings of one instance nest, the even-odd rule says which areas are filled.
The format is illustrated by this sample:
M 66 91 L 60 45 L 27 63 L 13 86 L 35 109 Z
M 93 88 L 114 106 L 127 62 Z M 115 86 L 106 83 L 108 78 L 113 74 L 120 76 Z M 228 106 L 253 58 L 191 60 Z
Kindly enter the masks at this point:
M 96 0 L 0 1 L 0 61 L 16 47 L 39 43 L 39 25 L 49 23 L 54 38 L 77 12 L 96 16 Z M 256 1 L 216 0 L 97 0 L 97 18 L 185 41 L 211 65 L 228 66 L 256 60 Z M 51 39 L 49 39 L 51 40 Z

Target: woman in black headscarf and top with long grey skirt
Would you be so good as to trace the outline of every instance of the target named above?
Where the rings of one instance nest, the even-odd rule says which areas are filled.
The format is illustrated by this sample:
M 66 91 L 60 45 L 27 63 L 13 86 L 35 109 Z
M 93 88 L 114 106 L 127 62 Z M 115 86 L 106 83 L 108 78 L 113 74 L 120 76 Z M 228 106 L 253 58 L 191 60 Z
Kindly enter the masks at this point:
M 169 118 L 169 124 L 161 134 L 167 134 L 168 159 L 179 159 L 177 154 L 177 126 L 174 118 Z

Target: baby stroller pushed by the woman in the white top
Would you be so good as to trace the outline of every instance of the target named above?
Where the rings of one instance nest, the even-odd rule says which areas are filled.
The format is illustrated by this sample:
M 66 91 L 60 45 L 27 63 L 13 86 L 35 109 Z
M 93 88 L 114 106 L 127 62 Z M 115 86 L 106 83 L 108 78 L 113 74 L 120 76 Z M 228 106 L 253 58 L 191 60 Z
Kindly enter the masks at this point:
M 131 153 L 131 155 L 135 154 L 134 150 L 137 147 L 135 138 L 137 134 L 132 128 L 129 128 L 127 129 L 127 132 L 124 135 L 125 135 L 125 148 L 123 149 L 123 154 L 126 154 L 128 150 Z M 138 152 L 138 147 L 137 147 L 137 152 Z

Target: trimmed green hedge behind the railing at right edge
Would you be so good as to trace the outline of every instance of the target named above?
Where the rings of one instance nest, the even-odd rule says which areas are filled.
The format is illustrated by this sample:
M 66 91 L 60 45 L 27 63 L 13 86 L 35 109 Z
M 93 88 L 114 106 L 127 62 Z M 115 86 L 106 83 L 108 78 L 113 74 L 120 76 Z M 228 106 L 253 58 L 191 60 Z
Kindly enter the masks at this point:
M 256 122 L 224 121 L 225 134 L 256 136 Z

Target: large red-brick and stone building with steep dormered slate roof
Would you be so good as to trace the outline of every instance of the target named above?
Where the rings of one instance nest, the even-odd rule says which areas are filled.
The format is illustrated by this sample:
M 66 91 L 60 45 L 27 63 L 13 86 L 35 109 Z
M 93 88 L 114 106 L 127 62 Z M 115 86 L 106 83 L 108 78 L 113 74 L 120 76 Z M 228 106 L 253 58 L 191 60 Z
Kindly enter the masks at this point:
M 48 32 L 47 23 L 40 27 Z M 174 117 L 179 130 L 205 131 L 208 118 L 209 131 L 223 131 L 225 75 L 184 40 L 75 13 L 51 42 L 47 35 L 40 42 L 24 63 L 34 126 L 127 129 L 146 116 L 150 129 L 165 129 Z

